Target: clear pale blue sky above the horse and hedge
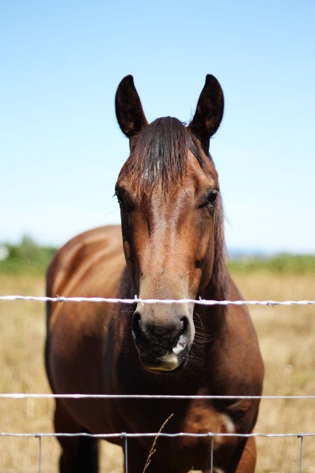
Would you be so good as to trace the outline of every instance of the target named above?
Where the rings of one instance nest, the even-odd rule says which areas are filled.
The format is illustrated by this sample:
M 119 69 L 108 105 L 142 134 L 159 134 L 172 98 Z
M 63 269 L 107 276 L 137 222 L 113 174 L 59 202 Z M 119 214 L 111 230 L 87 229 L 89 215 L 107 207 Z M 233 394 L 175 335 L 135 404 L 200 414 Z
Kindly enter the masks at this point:
M 0 242 L 119 223 L 127 74 L 148 121 L 188 121 L 207 73 L 230 249 L 315 253 L 314 1 L 0 1 Z

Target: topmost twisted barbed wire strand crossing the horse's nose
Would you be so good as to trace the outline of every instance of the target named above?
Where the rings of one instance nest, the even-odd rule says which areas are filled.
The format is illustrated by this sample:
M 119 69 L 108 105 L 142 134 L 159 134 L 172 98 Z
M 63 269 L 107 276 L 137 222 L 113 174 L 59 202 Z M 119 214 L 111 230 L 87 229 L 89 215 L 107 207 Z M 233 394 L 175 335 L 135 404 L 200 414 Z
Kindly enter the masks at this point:
M 310 305 L 315 304 L 315 301 L 273 301 L 266 299 L 265 301 L 215 301 L 206 299 L 139 299 L 134 296 L 134 299 L 119 299 L 119 298 L 104 298 L 104 297 L 46 297 L 46 296 L 0 296 L 0 301 L 37 301 L 37 302 L 93 302 L 93 303 L 108 303 L 108 304 L 197 304 L 197 305 Z

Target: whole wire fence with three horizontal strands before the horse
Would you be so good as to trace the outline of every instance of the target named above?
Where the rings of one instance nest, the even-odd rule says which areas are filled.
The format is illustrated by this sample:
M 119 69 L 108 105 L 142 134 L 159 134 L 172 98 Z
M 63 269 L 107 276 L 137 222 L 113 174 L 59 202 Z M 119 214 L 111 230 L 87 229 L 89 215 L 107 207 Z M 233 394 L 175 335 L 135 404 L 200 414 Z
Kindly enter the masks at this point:
M 0 296 L 0 301 L 36 301 L 36 302 L 55 302 L 55 303 L 82 303 L 82 302 L 91 302 L 91 303 L 109 303 L 109 304 L 197 304 L 197 305 L 263 305 L 263 306 L 277 306 L 277 305 L 310 305 L 315 304 L 315 301 L 273 301 L 266 299 L 264 301 L 215 301 L 215 300 L 204 300 L 199 298 L 198 300 L 192 299 L 180 299 L 180 300 L 159 300 L 159 299 L 139 299 L 137 296 L 134 299 L 118 299 L 118 298 L 101 298 L 101 297 L 35 297 L 35 296 L 19 296 L 19 295 L 9 295 L 9 296 Z M 32 394 L 32 393 L 1 393 L 0 399 L 209 399 L 209 400 L 218 400 L 218 399 L 315 399 L 315 396 L 172 396 L 172 395 L 100 395 L 100 394 Z M 128 473 L 128 463 L 127 463 L 127 439 L 139 438 L 139 437 L 150 437 L 150 438 L 177 438 L 177 437 L 196 437 L 196 438 L 209 438 L 209 448 L 210 448 L 210 464 L 209 472 L 213 473 L 213 447 L 214 447 L 214 438 L 221 437 L 239 437 L 239 438 L 251 438 L 251 437 L 264 437 L 264 438 L 289 438 L 296 437 L 301 439 L 300 442 L 300 464 L 299 472 L 302 473 L 302 459 L 303 459 L 303 439 L 306 437 L 315 437 L 315 432 L 313 433 L 286 433 L 286 434 L 263 434 L 263 433 L 250 433 L 250 434 L 239 434 L 239 433 L 187 433 L 187 432 L 178 432 L 175 434 L 168 434 L 163 432 L 156 433 L 111 433 L 111 434 L 89 434 L 85 432 L 81 433 L 9 433 L 9 432 L 0 432 L 0 437 L 33 437 L 39 439 L 39 455 L 38 455 L 38 468 L 39 473 L 41 473 L 41 457 L 42 457 L 42 447 L 41 439 L 47 437 L 89 437 L 94 439 L 113 439 L 120 438 L 124 443 L 125 450 L 125 472 Z

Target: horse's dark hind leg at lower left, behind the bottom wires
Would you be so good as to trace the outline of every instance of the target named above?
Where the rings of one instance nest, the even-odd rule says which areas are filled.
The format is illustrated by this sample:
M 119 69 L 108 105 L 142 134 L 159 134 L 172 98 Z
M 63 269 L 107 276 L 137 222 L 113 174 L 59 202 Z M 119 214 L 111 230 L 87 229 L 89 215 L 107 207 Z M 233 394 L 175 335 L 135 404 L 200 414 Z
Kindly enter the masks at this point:
M 56 400 L 56 433 L 79 434 L 86 432 Z M 98 473 L 98 442 L 89 437 L 57 436 L 62 447 L 60 473 Z

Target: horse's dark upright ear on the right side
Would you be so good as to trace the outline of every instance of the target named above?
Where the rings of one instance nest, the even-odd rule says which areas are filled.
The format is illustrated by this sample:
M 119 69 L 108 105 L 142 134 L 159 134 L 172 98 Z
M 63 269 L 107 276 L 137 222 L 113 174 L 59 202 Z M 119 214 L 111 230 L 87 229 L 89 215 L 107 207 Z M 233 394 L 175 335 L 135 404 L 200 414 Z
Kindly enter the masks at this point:
M 221 85 L 217 79 L 208 74 L 201 91 L 189 130 L 195 135 L 208 155 L 210 138 L 216 133 L 223 116 L 224 98 Z

